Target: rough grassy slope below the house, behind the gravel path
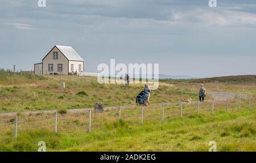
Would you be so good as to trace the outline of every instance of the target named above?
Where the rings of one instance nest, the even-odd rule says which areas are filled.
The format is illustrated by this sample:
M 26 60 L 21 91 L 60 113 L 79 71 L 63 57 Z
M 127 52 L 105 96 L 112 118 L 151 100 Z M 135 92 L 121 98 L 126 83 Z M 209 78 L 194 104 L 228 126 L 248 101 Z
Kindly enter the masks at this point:
M 19 82 L 18 82 L 19 81 Z M 65 81 L 66 89 L 61 89 Z M 143 85 L 99 84 L 95 77 L 10 75 L 0 78 L 0 112 L 88 108 L 95 102 L 104 106 L 135 104 Z M 152 91 L 151 102 L 196 98 L 196 91 L 160 86 Z

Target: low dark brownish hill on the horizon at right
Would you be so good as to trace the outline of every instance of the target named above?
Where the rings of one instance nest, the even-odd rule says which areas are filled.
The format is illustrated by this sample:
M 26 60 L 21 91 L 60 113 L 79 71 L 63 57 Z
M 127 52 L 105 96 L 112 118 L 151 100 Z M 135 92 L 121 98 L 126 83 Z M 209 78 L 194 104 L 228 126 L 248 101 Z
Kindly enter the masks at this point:
M 224 77 L 212 77 L 212 78 L 199 78 L 191 80 L 190 82 L 256 82 L 256 75 L 244 75 L 244 76 L 224 76 Z

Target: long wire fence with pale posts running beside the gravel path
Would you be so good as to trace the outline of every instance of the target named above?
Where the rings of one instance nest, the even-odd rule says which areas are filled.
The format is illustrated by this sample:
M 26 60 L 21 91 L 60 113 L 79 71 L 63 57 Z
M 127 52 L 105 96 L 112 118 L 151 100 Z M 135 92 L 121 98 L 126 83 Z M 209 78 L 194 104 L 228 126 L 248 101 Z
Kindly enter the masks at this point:
M 217 111 L 241 111 L 256 108 L 256 98 L 239 95 L 233 99 L 205 102 L 192 101 L 156 103 L 150 106 L 113 107 L 103 112 L 85 110 L 67 114 L 30 114 L 0 117 L 0 139 L 19 137 L 28 131 L 52 131 L 55 133 L 75 134 L 91 132 L 106 124 L 122 120 L 129 125 L 160 123 L 193 114 L 214 114 Z

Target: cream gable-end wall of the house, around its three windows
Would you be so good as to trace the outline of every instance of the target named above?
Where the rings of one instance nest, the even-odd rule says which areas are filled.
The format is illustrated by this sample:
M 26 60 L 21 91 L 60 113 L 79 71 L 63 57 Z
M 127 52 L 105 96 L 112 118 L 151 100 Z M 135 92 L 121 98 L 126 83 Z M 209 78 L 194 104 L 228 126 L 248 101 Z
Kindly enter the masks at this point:
M 58 58 L 53 59 L 53 52 L 58 52 Z M 53 64 L 53 70 L 49 71 L 49 64 Z M 62 64 L 62 71 L 58 71 L 57 65 Z M 54 47 L 51 52 L 43 59 L 43 74 L 57 73 L 57 74 L 68 74 L 68 59 L 57 49 Z

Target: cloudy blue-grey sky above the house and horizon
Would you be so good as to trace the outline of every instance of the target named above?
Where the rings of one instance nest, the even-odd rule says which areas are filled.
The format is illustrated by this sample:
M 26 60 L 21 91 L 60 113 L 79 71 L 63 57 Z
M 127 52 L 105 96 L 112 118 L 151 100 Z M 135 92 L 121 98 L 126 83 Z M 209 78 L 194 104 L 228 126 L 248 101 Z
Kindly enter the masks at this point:
M 159 64 L 160 74 L 256 74 L 256 1 L 0 0 L 0 68 L 31 70 L 70 45 L 86 72 L 101 63 Z

